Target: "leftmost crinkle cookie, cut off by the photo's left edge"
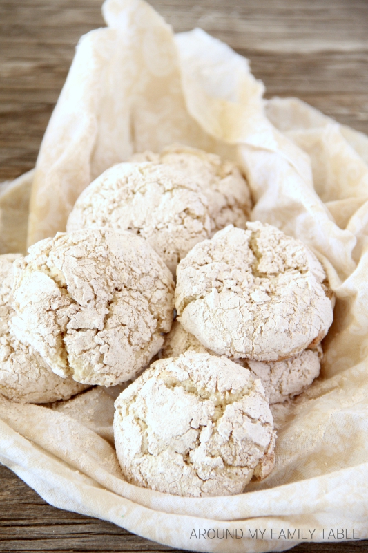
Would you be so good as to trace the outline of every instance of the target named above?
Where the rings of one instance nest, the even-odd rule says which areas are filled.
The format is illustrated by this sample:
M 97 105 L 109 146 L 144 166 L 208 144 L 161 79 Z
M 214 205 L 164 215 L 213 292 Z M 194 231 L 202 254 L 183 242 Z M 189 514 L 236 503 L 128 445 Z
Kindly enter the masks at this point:
M 0 256 L 0 393 L 21 403 L 68 400 L 88 386 L 52 373 L 42 357 L 28 344 L 14 338 L 8 324 L 11 307 L 13 261 L 20 254 Z

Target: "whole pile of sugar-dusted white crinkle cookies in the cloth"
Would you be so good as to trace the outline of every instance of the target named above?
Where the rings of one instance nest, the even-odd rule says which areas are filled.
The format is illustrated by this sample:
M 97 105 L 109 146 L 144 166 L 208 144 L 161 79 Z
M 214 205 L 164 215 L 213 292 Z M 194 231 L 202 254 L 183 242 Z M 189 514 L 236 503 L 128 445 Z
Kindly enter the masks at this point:
M 214 154 L 172 146 L 105 171 L 66 233 L 0 256 L 1 393 L 42 403 L 133 379 L 114 422 L 128 482 L 200 497 L 265 478 L 269 404 L 318 376 L 333 296 L 316 256 L 250 212 Z

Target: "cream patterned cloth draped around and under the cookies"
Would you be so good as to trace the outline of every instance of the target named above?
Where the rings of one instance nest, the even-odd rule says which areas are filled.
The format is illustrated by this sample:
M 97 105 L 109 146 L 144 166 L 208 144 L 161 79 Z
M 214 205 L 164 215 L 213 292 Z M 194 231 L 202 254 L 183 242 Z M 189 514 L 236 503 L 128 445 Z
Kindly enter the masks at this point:
M 368 138 L 299 100 L 264 102 L 244 58 L 201 30 L 174 37 L 141 0 L 108 0 L 104 15 L 109 27 L 81 40 L 43 139 L 29 241 L 63 230 L 79 192 L 133 151 L 180 141 L 239 156 L 253 220 L 300 238 L 329 274 L 325 362 L 309 391 L 273 407 L 275 469 L 238 496 L 180 498 L 124 482 L 104 439 L 113 399 L 95 391 L 63 412 L 1 400 L 1 462 L 52 505 L 173 547 L 285 550 L 309 529 L 322 541 L 322 528 L 367 538 Z M 81 405 L 73 412 L 77 401 L 86 416 Z M 195 538 L 200 529 L 243 538 Z M 263 539 L 248 539 L 255 529 Z

